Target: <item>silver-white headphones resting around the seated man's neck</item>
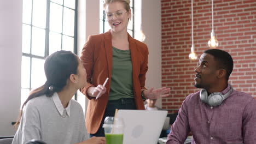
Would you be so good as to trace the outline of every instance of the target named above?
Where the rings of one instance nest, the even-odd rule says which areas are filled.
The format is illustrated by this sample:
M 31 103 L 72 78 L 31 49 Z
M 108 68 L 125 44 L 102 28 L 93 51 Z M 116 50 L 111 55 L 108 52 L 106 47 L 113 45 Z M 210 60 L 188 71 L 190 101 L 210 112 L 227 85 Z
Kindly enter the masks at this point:
M 200 99 L 203 101 L 203 103 L 206 103 L 210 106 L 217 106 L 220 105 L 224 99 L 228 98 L 232 91 L 233 88 L 230 85 L 230 90 L 226 94 L 223 95 L 220 92 L 214 92 L 208 96 L 206 89 L 202 89 L 200 91 Z

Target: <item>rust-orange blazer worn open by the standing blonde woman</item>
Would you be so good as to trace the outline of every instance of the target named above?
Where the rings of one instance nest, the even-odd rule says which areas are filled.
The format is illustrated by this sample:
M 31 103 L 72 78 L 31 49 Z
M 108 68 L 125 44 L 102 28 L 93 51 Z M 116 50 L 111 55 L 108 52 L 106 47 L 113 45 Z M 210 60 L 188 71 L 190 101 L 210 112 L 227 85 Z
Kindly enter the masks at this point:
M 148 47 L 146 44 L 141 43 L 141 41 L 133 39 L 129 34 L 128 40 L 131 51 L 133 93 L 136 108 L 138 110 L 144 110 L 141 91 L 146 89 L 145 80 L 148 70 Z M 103 34 L 90 35 L 83 47 L 80 58 L 86 69 L 88 82 L 88 86 L 80 89 L 89 99 L 85 118 L 86 129 L 88 133 L 95 134 L 100 127 L 110 91 L 112 72 L 112 38 L 110 31 Z M 95 100 L 94 97 L 90 97 L 87 93 L 88 88 L 103 85 L 107 77 L 109 77 L 109 80 L 105 86 L 107 88 L 106 93 L 97 100 Z

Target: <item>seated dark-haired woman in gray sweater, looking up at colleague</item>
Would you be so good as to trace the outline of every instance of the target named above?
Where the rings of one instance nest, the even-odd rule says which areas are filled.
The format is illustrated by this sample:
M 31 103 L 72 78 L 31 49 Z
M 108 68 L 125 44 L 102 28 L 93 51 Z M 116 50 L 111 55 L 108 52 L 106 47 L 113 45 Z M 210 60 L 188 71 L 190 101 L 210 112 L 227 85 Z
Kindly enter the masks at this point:
M 84 113 L 72 97 L 85 87 L 86 71 L 71 51 L 57 51 L 44 63 L 46 82 L 34 89 L 22 105 L 13 144 L 42 140 L 45 143 L 105 143 L 104 137 L 86 137 Z M 25 106 L 25 108 L 24 108 Z

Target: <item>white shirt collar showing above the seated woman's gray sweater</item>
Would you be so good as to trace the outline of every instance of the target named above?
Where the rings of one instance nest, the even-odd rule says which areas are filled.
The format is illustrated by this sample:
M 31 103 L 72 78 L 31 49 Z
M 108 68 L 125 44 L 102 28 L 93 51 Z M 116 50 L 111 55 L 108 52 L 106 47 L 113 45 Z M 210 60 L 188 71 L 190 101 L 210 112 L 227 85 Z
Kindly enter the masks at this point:
M 61 104 L 59 95 L 57 93 L 54 93 L 52 98 L 61 117 L 66 117 L 67 115 L 68 117 L 70 117 L 70 100 L 68 101 L 68 106 L 66 107 L 66 109 L 64 109 L 63 105 Z

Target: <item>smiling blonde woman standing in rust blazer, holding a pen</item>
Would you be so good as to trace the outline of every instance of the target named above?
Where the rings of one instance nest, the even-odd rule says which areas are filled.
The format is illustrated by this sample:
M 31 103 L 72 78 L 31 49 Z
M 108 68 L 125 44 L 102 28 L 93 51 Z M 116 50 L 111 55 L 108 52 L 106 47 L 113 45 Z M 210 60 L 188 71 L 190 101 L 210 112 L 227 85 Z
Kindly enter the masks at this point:
M 105 0 L 103 8 L 110 30 L 90 35 L 80 57 L 88 74 L 88 86 L 80 91 L 90 99 L 86 112 L 90 136 L 104 136 L 104 118 L 114 116 L 115 109 L 144 110 L 143 99 L 167 97 L 170 92 L 170 88 L 145 87 L 148 47 L 127 33 L 130 1 Z

